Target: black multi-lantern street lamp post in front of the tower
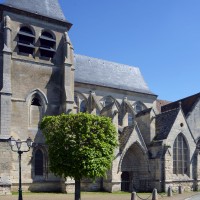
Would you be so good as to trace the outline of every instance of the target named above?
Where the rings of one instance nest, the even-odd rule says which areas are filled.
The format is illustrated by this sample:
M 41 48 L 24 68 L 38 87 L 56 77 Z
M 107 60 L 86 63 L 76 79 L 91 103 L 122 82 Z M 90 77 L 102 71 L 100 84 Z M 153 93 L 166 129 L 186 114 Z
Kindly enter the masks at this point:
M 30 137 L 27 140 L 20 140 L 20 139 L 15 140 L 13 137 L 11 137 L 8 142 L 11 147 L 11 150 L 18 153 L 18 158 L 19 158 L 19 190 L 18 190 L 19 196 L 18 196 L 18 200 L 23 200 L 23 198 L 22 198 L 22 178 L 21 178 L 21 156 L 24 152 L 28 152 L 30 150 L 33 142 Z M 28 147 L 26 150 L 21 150 L 21 146 L 23 143 L 25 143 Z

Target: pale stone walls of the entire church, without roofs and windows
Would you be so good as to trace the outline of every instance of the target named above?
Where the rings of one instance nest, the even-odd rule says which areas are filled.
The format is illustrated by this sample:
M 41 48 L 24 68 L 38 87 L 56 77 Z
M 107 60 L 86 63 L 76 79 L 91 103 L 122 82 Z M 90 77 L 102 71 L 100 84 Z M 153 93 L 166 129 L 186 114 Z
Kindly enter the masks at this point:
M 42 116 L 79 112 L 80 107 L 74 104 L 75 90 L 81 100 L 86 100 L 88 112 L 100 114 L 102 111 L 103 115 L 112 118 L 117 130 L 122 132 L 127 126 L 136 127 L 135 104 L 139 102 L 144 109 L 152 108 L 156 96 L 74 81 L 73 47 L 67 35 L 68 29 L 63 26 L 64 22 L 59 24 L 59 20 L 55 23 L 53 19 L 46 19 L 44 16 L 33 17 L 33 13 L 24 15 L 20 10 L 1 12 L 3 18 L 0 33 L 2 51 L 0 55 L 0 195 L 18 190 L 18 154 L 12 152 L 8 145 L 10 136 L 21 140 L 31 137 L 35 144 L 28 153 L 22 154 L 24 191 L 73 192 L 74 180 L 67 178 L 65 181 L 64 178 L 56 177 L 49 171 L 47 146 L 38 128 Z M 19 52 L 18 34 L 23 25 L 30 28 L 35 36 L 33 54 Z M 40 37 L 43 30 L 49 31 L 55 37 L 56 56 L 53 58 L 40 55 Z M 40 102 L 33 103 L 34 97 L 37 97 Z M 107 108 L 104 105 L 105 97 L 111 97 L 114 103 L 112 107 Z M 132 118 L 129 114 L 132 114 Z M 97 179 L 96 182 L 85 179 L 81 184 L 83 190 L 119 191 L 123 173 L 128 174 L 129 191 L 134 188 L 140 191 L 152 191 L 154 188 L 158 191 L 167 191 L 169 186 L 177 190 L 180 183 L 185 190 L 200 188 L 200 158 L 195 143 L 199 140 L 200 132 L 200 101 L 186 116 L 190 129 L 185 123 L 184 116 L 179 113 L 168 138 L 163 139 L 163 144 L 152 143 L 156 133 L 154 117 L 150 111 L 136 118 L 137 128 L 140 129 L 136 137 L 140 139 L 140 144 L 138 141 L 124 139 L 123 147 L 126 142 L 131 145 L 126 149 L 123 160 L 121 161 L 123 148 L 116 149 L 116 158 L 112 163 L 112 169 L 107 172 L 107 178 Z M 130 119 L 132 124 L 129 124 Z M 184 135 L 189 147 L 186 174 L 173 173 L 173 144 L 179 133 Z M 129 132 L 127 135 L 130 136 Z M 42 175 L 35 173 L 37 150 L 40 150 L 44 156 Z M 119 166 L 120 162 L 122 166 Z

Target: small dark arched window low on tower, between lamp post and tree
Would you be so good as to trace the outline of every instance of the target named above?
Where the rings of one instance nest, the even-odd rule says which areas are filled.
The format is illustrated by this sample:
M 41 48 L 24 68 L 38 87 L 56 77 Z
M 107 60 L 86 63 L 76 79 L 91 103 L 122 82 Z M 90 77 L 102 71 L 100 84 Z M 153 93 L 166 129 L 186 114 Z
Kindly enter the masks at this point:
M 35 175 L 43 176 L 44 174 L 44 155 L 42 150 L 37 149 L 35 152 Z

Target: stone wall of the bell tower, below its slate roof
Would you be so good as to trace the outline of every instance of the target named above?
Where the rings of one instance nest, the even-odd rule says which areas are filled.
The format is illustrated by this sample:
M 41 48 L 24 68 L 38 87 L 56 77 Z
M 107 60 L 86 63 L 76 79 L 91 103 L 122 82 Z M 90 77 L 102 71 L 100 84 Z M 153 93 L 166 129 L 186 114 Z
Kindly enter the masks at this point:
M 12 55 L 9 52 L 7 53 L 8 55 L 4 53 L 3 61 L 1 57 L 0 72 L 3 69 L 4 71 L 7 70 L 7 68 L 10 71 L 7 70 L 3 77 L 1 77 L 2 73 L 0 74 L 0 90 L 4 85 L 7 88 L 10 86 L 9 92 L 12 93 L 12 96 L 0 95 L 1 133 L 4 133 L 5 129 L 5 133 L 8 132 L 7 135 L 4 133 L 7 139 L 10 136 L 21 140 L 31 137 L 34 143 L 37 144 L 33 149 L 31 148 L 31 151 L 22 154 L 23 190 L 58 192 L 62 190 L 64 180 L 60 177 L 55 177 L 49 172 L 47 154 L 44 155 L 44 174 L 36 176 L 34 172 L 34 152 L 38 148 L 46 149 L 44 137 L 38 129 L 38 123 L 42 116 L 44 114 L 55 115 L 67 111 L 64 105 L 66 104 L 66 96 L 70 95 L 65 91 L 65 86 L 71 87 L 74 84 L 71 79 L 74 73 L 71 70 L 73 62 L 70 62 L 70 59 L 73 58 L 73 53 L 71 49 L 68 49 L 70 41 L 65 41 L 67 27 L 59 25 L 59 23 L 51 23 L 51 20 L 33 18 L 32 15 L 24 16 L 24 13 L 20 11 L 19 13 L 5 11 L 3 15 L 6 16 L 8 30 L 12 31 L 12 34 L 7 34 L 7 37 L 10 36 L 11 38 L 3 38 L 5 34 L 0 34 L 1 41 L 8 41 L 7 46 L 10 47 L 9 50 L 12 51 Z M 22 26 L 29 27 L 35 36 L 35 51 L 32 55 L 19 52 L 18 34 Z M 56 39 L 56 56 L 53 59 L 41 57 L 39 53 L 40 36 L 44 30 L 49 31 Z M 72 53 L 72 55 L 68 55 L 68 53 Z M 67 61 L 65 61 L 65 56 L 68 59 Z M 64 69 L 65 65 L 67 65 L 66 69 Z M 66 76 L 64 74 L 65 71 L 67 72 Z M 10 79 L 6 79 L 7 77 L 10 77 Z M 68 80 L 67 82 L 64 81 L 65 78 Z M 73 87 L 70 92 L 73 94 Z M 35 107 L 32 105 L 34 96 L 40 99 L 40 103 Z M 71 98 L 73 98 L 73 95 L 68 98 L 68 101 L 72 101 Z M 4 104 L 10 105 L 9 109 Z M 6 124 L 3 123 L 5 121 L 7 122 Z M 12 183 L 9 187 L 11 187 L 12 191 L 17 191 L 19 181 L 18 154 L 11 152 L 7 140 L 4 141 L 0 142 L 0 154 L 2 154 L 1 158 L 3 158 L 2 164 L 0 164 L 0 177 L 2 180 L 5 177 L 9 178 Z M 5 147 L 5 145 L 7 146 Z M 5 165 L 8 163 L 9 166 L 5 169 Z M 0 182 L 0 192 L 5 192 L 2 189 L 2 184 Z

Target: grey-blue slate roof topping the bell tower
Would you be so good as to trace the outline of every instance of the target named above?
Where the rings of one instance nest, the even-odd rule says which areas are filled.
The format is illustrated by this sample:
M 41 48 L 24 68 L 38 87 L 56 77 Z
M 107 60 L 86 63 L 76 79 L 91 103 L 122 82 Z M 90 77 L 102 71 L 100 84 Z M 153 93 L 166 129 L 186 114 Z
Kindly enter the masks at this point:
M 65 20 L 58 0 L 5 0 L 3 4 L 53 19 Z

